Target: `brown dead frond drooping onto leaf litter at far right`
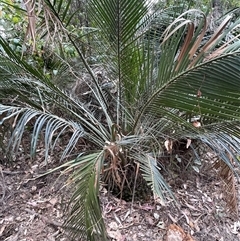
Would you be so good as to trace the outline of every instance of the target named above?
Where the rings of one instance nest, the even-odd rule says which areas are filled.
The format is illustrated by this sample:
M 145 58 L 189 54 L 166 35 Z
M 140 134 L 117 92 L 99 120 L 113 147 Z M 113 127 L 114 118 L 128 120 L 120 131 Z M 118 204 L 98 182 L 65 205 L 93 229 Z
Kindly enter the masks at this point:
M 231 156 L 229 156 L 229 159 L 232 161 Z M 238 217 L 238 199 L 234 172 L 223 160 L 218 160 L 214 164 L 214 168 L 223 182 L 224 199 L 227 207 L 231 213 Z

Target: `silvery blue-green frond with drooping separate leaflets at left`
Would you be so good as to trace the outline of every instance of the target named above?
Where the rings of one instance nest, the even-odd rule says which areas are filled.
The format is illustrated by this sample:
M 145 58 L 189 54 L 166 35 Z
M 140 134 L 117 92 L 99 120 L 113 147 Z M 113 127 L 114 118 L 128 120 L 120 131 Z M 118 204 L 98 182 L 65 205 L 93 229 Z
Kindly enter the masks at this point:
M 48 153 L 54 149 L 56 142 L 61 138 L 61 135 L 66 132 L 71 133 L 71 138 L 68 145 L 65 147 L 61 159 L 72 153 L 80 138 L 85 137 L 85 132 L 77 122 L 65 120 L 57 115 L 40 112 L 31 108 L 13 107 L 0 105 L 1 123 L 12 120 L 12 135 L 8 141 L 8 149 L 12 153 L 17 152 L 23 133 L 26 128 L 32 128 L 31 138 L 31 155 L 35 155 L 38 141 L 41 133 L 44 134 L 45 143 L 45 159 L 48 159 Z M 32 124 L 32 123 L 34 124 Z

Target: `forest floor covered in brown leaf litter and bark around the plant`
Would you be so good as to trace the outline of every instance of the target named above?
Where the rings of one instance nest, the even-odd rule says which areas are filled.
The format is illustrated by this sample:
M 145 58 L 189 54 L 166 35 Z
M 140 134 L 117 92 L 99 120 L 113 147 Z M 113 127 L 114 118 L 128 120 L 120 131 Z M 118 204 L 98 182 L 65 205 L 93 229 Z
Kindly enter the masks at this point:
M 57 165 L 54 158 L 49 158 L 46 166 L 41 153 L 34 161 L 18 155 L 8 166 L 0 160 L 1 241 L 69 240 L 61 228 L 71 195 L 70 188 L 64 185 L 67 177 L 55 172 L 35 179 Z M 169 175 L 177 205 L 171 198 L 165 203 L 153 198 L 144 203 L 126 202 L 102 188 L 101 206 L 110 240 L 240 240 L 240 220 L 227 211 L 221 180 L 209 165 L 202 169 L 200 173 L 188 171 L 184 180 Z

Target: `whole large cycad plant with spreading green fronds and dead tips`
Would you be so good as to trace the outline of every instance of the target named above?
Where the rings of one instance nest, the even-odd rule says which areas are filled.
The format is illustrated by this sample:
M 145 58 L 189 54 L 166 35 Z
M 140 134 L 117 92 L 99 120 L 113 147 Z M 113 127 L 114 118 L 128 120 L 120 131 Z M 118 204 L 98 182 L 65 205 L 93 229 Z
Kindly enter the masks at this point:
M 197 10 L 151 12 L 147 0 L 90 0 L 94 54 L 109 80 L 103 83 L 56 5 L 44 4 L 91 77 L 85 83 L 91 98 L 86 102 L 86 93 L 74 98 L 59 89 L 1 38 L 1 123 L 11 120 L 12 153 L 30 124 L 33 155 L 41 132 L 46 159 L 66 132 L 71 137 L 61 161 L 80 139 L 91 144 L 61 163 L 73 170 L 69 182 L 75 190 L 64 225 L 73 240 L 107 240 L 99 203 L 102 182 L 120 193 L 133 184 L 134 194 L 139 178 L 154 197 L 171 195 L 161 157 L 177 140 L 188 145 L 199 140 L 233 167 L 230 159 L 237 161 L 240 150 L 240 41 L 231 33 L 239 21 L 226 16 L 208 38 L 206 16 Z

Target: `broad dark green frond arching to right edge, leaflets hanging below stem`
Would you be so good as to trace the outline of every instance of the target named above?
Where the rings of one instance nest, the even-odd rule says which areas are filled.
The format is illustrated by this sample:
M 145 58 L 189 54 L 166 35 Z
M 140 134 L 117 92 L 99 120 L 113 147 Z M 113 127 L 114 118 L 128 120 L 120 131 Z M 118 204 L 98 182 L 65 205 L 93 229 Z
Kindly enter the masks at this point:
M 169 80 L 142 110 L 157 116 L 162 107 L 201 116 L 202 124 L 239 120 L 238 52 L 205 62 Z

